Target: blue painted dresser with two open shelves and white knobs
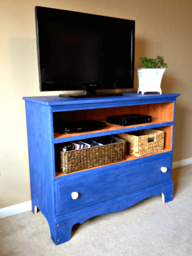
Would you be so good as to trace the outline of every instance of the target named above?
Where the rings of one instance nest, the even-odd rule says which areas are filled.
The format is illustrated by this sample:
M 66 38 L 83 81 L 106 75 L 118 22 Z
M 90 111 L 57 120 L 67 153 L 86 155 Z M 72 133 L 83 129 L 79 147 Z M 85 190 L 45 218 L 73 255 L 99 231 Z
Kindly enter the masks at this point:
M 93 216 L 126 209 L 141 200 L 162 194 L 173 199 L 172 150 L 175 101 L 180 94 L 124 93 L 123 96 L 71 99 L 59 96 L 24 97 L 26 105 L 28 155 L 32 210 L 44 214 L 55 244 L 71 238 L 71 229 Z M 107 124 L 98 131 L 54 132 L 54 122 L 93 119 L 123 114 L 152 116 L 147 124 Z M 87 170 L 62 174 L 57 147 L 62 142 L 144 129 L 164 131 L 164 150 Z M 163 167 L 163 168 L 162 168 Z M 73 192 L 77 195 L 73 199 Z M 73 193 L 73 194 L 72 194 Z

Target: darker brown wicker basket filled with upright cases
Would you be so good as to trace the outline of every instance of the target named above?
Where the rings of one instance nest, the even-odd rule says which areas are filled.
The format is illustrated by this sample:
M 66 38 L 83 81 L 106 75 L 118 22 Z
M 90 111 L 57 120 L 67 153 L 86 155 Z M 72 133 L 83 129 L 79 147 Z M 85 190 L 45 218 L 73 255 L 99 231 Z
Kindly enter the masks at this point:
M 83 148 L 71 151 L 60 151 L 60 171 L 69 173 L 123 161 L 125 156 L 126 141 L 113 137 L 115 143 Z

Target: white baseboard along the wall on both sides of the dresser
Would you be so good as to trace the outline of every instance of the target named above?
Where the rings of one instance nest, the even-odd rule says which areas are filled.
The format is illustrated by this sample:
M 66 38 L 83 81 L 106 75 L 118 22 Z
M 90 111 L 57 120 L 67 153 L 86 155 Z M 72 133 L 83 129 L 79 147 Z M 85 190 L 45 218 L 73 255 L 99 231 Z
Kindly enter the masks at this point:
M 192 157 L 184 159 L 184 160 L 180 160 L 180 161 L 177 161 L 177 162 L 173 162 L 172 163 L 172 169 L 179 168 L 179 167 L 189 165 L 189 164 L 192 164 Z M 0 209 L 0 219 L 3 219 L 3 218 L 8 217 L 8 216 L 15 215 L 15 214 L 18 214 L 18 213 L 21 213 L 21 212 L 31 211 L 31 210 L 32 210 L 31 201 L 24 202 L 24 203 L 21 203 L 21 204 L 11 205 L 11 206 Z

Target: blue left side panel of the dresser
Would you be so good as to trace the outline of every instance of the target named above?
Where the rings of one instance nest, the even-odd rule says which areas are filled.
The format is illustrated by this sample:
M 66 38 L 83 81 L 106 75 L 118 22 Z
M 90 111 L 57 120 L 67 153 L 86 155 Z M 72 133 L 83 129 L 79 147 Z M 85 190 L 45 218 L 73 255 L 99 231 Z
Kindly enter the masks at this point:
M 26 119 L 32 211 L 36 205 L 52 232 L 55 228 L 52 112 L 50 107 L 26 101 Z

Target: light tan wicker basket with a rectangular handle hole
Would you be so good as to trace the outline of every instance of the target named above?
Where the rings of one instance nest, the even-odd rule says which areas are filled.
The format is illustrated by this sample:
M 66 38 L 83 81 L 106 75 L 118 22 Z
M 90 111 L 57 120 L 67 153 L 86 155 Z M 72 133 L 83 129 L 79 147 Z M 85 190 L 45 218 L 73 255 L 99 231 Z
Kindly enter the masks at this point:
M 127 141 L 126 153 L 132 156 L 144 156 L 164 149 L 164 131 L 148 129 L 118 136 Z

